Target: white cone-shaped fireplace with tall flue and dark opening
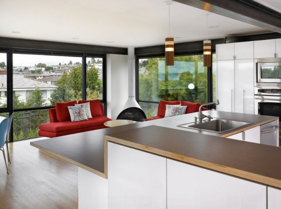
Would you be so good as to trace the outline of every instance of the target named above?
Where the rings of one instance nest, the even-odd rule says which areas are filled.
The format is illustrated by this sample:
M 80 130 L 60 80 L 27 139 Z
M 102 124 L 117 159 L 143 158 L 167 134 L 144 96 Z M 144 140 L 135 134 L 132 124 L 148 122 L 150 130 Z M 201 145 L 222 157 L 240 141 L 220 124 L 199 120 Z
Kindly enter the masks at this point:
M 128 100 L 117 119 L 145 121 L 146 114 L 135 100 L 134 47 L 128 47 Z

